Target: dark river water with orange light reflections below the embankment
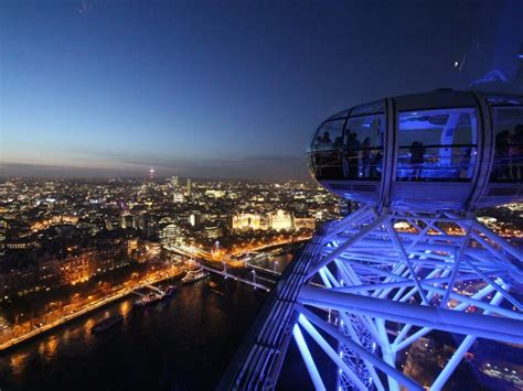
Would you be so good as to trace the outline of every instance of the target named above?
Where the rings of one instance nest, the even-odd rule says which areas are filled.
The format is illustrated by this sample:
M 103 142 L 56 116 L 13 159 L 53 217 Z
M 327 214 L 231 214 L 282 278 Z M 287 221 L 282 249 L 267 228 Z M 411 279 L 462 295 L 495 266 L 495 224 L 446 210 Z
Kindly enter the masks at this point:
M 292 256 L 275 258 L 282 270 Z M 137 297 L 129 296 L 1 354 L 0 389 L 213 389 L 267 294 L 218 276 L 177 284 L 174 296 L 154 306 L 132 309 Z M 90 333 L 116 314 L 124 323 Z

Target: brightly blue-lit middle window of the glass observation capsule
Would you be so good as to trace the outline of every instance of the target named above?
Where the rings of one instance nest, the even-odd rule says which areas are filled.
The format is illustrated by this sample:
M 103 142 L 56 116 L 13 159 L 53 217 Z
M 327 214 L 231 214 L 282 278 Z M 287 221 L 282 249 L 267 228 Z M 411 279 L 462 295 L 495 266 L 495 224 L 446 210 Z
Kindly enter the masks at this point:
M 396 180 L 470 181 L 477 133 L 473 108 L 401 112 Z

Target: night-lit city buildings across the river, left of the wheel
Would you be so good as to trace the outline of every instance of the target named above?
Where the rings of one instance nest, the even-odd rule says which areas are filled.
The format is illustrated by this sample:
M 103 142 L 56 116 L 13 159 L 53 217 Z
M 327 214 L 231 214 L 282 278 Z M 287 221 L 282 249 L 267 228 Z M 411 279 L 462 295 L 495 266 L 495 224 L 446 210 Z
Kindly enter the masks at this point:
M 82 284 L 89 286 L 83 297 L 93 301 L 109 291 L 89 281 L 108 273 L 122 282 L 153 270 L 181 273 L 184 258 L 173 249 L 198 249 L 211 261 L 234 265 L 233 258 L 260 248 L 308 239 L 317 221 L 346 208 L 311 184 L 181 184 L 178 177 L 156 180 L 152 171 L 145 181 L 9 178 L 0 195 L 0 301 L 13 307 L 23 296 Z M 50 323 L 41 319 L 56 315 L 58 301 L 62 313 L 67 305 L 77 312 L 92 304 L 77 296 L 70 303 L 53 298 L 30 314 L 12 313 L 0 321 L 0 343 L 19 336 L 21 324 Z

